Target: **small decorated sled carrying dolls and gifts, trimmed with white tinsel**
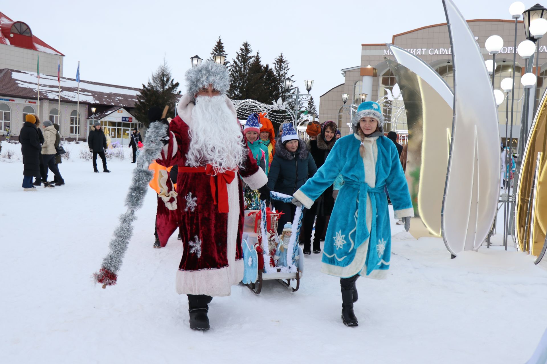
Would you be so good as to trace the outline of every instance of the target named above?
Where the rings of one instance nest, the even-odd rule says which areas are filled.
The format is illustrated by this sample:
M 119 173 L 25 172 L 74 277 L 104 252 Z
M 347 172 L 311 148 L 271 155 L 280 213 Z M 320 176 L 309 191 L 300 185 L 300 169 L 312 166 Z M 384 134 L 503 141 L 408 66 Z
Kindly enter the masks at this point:
M 293 197 L 276 192 L 272 199 L 290 202 Z M 269 279 L 295 292 L 300 288 L 300 278 L 304 272 L 304 254 L 298 246 L 298 236 L 302 225 L 302 210 L 297 207 L 293 223 L 284 226 L 282 236 L 277 235 L 279 213 L 266 208 L 264 201 L 260 210 L 246 211 L 243 232 L 243 284 L 254 294 L 260 294 L 262 283 Z M 263 218 L 265 217 L 265 218 Z

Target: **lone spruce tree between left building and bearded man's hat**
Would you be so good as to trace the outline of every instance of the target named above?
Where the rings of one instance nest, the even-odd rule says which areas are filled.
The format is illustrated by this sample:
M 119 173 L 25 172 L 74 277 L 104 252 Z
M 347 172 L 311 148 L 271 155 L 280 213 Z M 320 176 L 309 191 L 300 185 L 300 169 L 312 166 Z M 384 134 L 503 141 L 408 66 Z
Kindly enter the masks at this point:
M 181 91 L 177 91 L 178 86 L 179 83 L 174 82 L 171 69 L 164 58 L 164 63 L 160 64 L 147 84 L 142 85 L 135 111 L 133 111 L 137 120 L 148 127 L 148 109 L 152 106 L 163 109 L 165 105 L 168 105 L 167 117 L 174 117 L 175 104 L 178 101 L 178 95 L 181 94 Z

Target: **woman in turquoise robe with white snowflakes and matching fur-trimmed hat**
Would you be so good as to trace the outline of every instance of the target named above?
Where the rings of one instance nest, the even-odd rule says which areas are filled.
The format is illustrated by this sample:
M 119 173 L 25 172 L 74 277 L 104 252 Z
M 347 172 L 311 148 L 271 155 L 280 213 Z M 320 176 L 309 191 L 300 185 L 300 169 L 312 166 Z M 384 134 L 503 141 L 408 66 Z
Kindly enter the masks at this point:
M 384 186 L 395 218 L 410 228 L 414 208 L 399 154 L 383 136 L 380 105 L 364 102 L 353 117 L 354 133 L 340 138 L 325 164 L 294 193 L 295 204 L 313 205 L 340 174 L 344 180 L 330 217 L 321 271 L 340 277 L 342 321 L 357 326 L 353 302 L 359 276 L 385 278 L 391 258 L 391 228 Z

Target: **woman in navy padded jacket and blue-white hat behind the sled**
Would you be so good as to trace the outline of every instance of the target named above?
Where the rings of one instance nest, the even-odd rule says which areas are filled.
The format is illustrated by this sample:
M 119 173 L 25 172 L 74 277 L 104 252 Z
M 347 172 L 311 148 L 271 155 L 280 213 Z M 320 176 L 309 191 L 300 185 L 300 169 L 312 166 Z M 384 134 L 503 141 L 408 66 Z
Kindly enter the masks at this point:
M 287 134 L 292 132 L 294 134 Z M 281 142 L 275 145 L 274 159 L 270 165 L 266 186 L 272 191 L 292 196 L 296 190 L 304 186 L 308 178 L 315 175 L 317 167 L 294 128 L 291 126 L 283 133 Z M 283 226 L 289 221 L 292 222 L 296 206 L 290 202 L 277 200 L 273 201 L 273 204 L 277 212 L 283 212 L 277 226 L 277 233 L 281 236 Z

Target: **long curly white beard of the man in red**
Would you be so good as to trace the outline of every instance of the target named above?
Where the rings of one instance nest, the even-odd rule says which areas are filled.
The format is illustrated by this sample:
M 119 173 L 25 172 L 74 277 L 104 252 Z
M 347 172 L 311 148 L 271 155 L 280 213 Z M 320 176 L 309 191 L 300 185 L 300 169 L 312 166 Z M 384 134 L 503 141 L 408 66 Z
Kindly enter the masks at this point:
M 242 166 L 243 134 L 224 96 L 198 96 L 192 110 L 186 164 L 211 164 L 219 173 Z

